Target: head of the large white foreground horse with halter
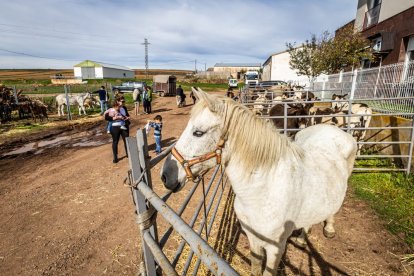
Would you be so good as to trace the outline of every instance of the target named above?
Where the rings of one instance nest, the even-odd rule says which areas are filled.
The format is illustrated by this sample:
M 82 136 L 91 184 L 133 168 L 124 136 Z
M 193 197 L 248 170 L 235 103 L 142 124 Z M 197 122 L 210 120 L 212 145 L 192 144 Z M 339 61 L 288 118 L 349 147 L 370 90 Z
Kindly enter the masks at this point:
M 168 155 L 161 169 L 164 186 L 170 190 L 181 189 L 187 180 L 222 162 L 220 143 L 223 143 L 224 101 L 202 90 L 192 89 L 198 99 L 191 118 L 178 139 L 172 154 Z M 226 119 L 224 119 L 226 120 Z M 220 151 L 220 153 L 219 153 Z

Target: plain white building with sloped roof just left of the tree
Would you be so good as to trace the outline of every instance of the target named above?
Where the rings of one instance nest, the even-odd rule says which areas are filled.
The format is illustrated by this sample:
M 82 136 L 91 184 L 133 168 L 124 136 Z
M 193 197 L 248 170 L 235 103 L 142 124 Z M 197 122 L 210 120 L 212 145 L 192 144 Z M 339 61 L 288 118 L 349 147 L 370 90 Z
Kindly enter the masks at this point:
M 263 64 L 263 81 L 281 80 L 298 84 L 306 84 L 306 76 L 298 76 L 296 70 L 290 68 L 290 54 L 283 51 L 271 55 Z

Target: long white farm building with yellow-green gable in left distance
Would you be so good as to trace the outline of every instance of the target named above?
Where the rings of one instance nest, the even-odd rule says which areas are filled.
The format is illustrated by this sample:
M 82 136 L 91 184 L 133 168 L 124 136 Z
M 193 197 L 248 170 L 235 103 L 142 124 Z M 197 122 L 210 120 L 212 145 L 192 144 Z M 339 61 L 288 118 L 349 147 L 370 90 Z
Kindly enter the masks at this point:
M 135 72 L 125 66 L 85 60 L 73 66 L 75 78 L 105 79 L 105 78 L 134 78 Z

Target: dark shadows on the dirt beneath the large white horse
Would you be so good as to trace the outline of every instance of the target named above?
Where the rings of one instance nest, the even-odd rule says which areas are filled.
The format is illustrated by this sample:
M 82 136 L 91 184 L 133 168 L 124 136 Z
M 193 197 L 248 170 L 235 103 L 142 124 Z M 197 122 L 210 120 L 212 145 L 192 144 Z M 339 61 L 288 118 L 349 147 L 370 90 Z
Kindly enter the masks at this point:
M 221 216 L 220 222 L 219 222 L 219 228 L 217 232 L 217 240 L 214 244 L 214 249 L 218 252 L 218 254 L 225 259 L 228 263 L 232 263 L 234 257 L 237 255 L 238 258 L 247 264 L 249 267 L 251 266 L 251 261 L 249 258 L 249 253 L 241 252 L 237 245 L 241 241 L 240 237 L 241 235 L 246 236 L 244 233 L 244 230 L 241 227 L 241 224 L 239 220 L 236 217 L 236 214 L 234 212 L 234 199 L 235 195 L 233 191 L 230 189 L 227 198 L 225 199 L 225 205 L 223 209 L 223 214 Z M 290 228 L 292 226 L 293 222 L 286 222 L 285 229 Z M 288 224 L 288 225 L 287 225 Z M 244 227 L 247 231 L 254 233 L 257 237 L 263 239 L 266 242 L 273 243 L 277 245 L 275 241 L 271 241 L 260 235 L 259 233 L 255 232 L 251 228 L 246 228 L 246 225 Z M 291 235 L 291 237 L 298 236 L 300 234 L 300 231 L 294 231 L 294 233 Z M 247 237 L 244 238 L 244 240 L 247 240 Z M 300 250 L 302 252 L 305 252 L 308 258 L 309 263 L 309 272 L 311 275 L 315 275 L 319 271 L 323 275 L 349 275 L 347 272 L 343 271 L 341 268 L 335 266 L 334 264 L 328 262 L 321 253 L 316 249 L 316 247 L 313 245 L 313 243 L 308 239 L 308 237 L 305 238 L 307 242 L 307 247 L 304 249 L 300 246 L 298 246 L 291 238 L 288 239 L 286 248 L 288 245 L 292 245 L 294 250 Z M 278 245 L 277 245 L 278 246 Z M 279 264 L 279 267 L 277 271 L 271 271 L 274 275 L 286 275 L 287 269 L 290 270 L 294 275 L 307 275 L 309 272 L 304 271 L 300 267 L 296 266 L 291 260 L 289 260 L 289 257 L 287 256 L 287 251 L 292 251 L 292 246 L 290 246 L 289 249 L 285 250 L 285 253 L 282 257 L 282 260 Z M 245 246 L 244 246 L 245 247 Z M 248 248 L 248 245 L 247 245 Z M 262 271 L 269 270 L 266 268 L 265 262 L 263 262 Z

